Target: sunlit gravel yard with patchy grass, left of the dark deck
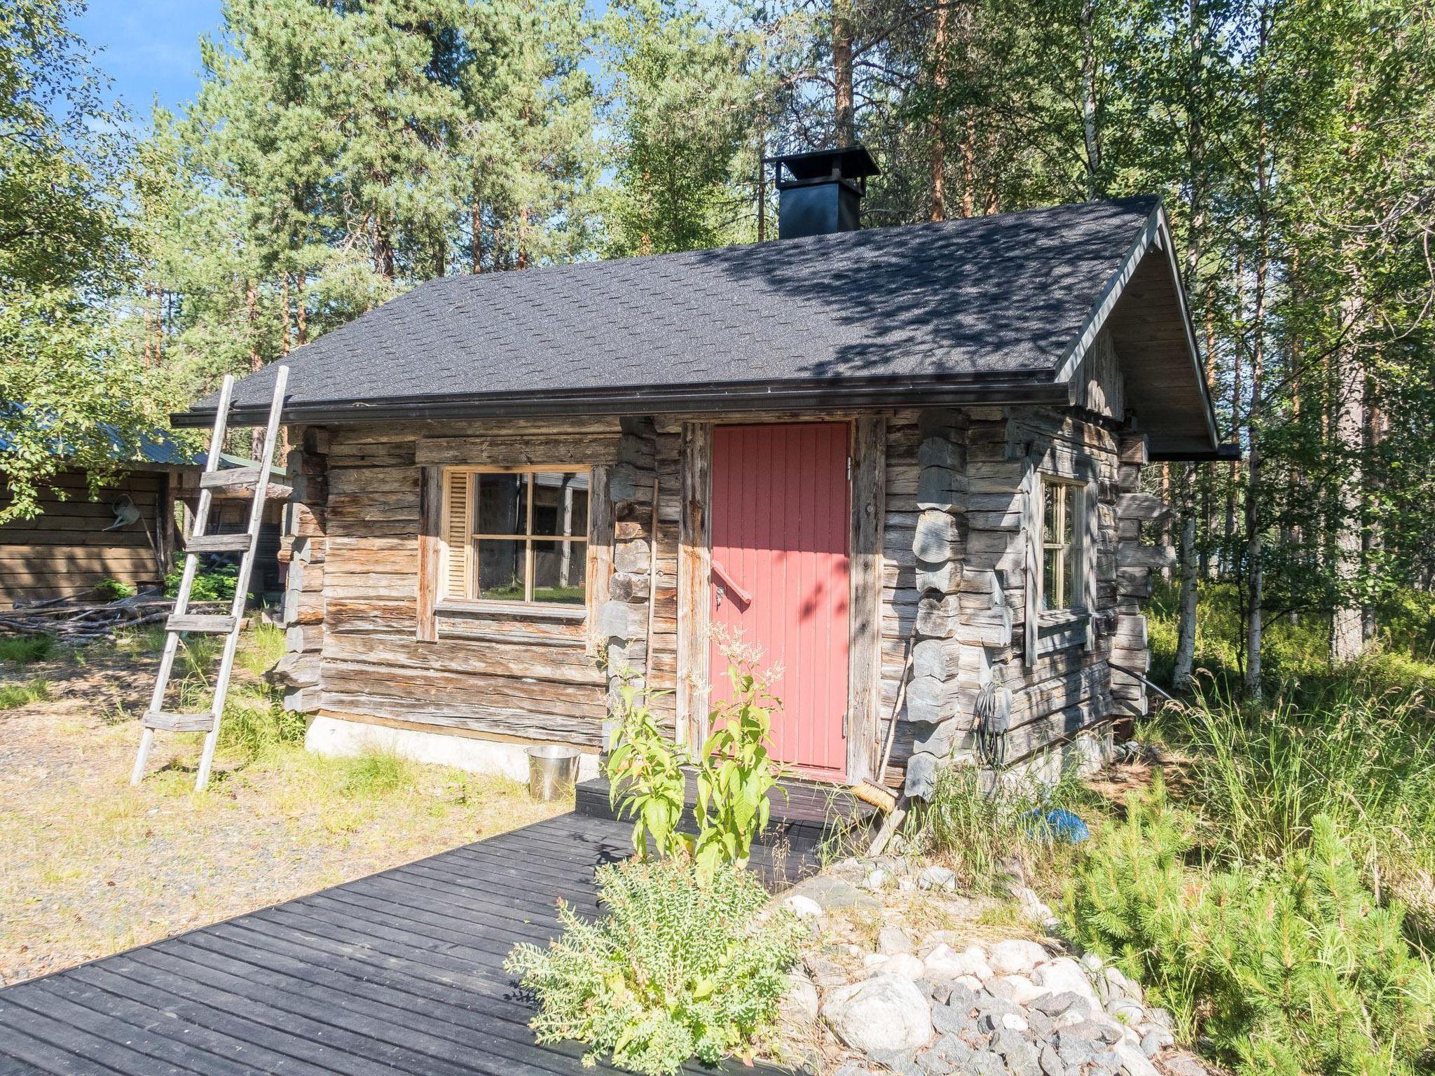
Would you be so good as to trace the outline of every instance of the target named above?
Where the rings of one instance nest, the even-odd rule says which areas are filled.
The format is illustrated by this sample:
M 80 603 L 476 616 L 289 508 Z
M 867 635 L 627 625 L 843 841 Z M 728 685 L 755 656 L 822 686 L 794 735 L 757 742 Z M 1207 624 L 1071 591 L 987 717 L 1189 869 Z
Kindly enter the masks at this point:
M 50 699 L 0 710 L 0 984 L 230 918 L 567 809 L 512 782 L 283 743 L 221 752 L 161 733 L 128 783 L 155 659 L 90 647 L 0 666 Z M 240 690 L 258 693 L 253 673 Z

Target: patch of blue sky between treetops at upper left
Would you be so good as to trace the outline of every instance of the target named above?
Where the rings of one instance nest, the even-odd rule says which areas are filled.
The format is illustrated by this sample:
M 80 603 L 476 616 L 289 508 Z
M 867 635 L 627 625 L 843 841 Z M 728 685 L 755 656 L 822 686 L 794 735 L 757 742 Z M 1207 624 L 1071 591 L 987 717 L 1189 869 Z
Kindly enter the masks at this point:
M 99 55 L 112 92 L 141 121 L 155 95 L 175 108 L 199 89 L 199 34 L 220 26 L 220 0 L 90 0 L 75 32 Z

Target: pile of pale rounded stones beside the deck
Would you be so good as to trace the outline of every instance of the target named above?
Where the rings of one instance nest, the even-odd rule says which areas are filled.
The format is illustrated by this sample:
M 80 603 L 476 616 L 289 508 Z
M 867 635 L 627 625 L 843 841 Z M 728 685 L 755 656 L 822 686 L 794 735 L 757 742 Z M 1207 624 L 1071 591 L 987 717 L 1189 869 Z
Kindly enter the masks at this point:
M 947 889 L 944 868 L 865 864 L 857 884 L 822 878 L 788 907 L 821 934 L 825 917 L 885 907 L 877 889 Z M 817 882 L 814 885 L 814 882 Z M 897 884 L 893 884 L 897 882 Z M 1039 904 L 1035 894 L 1030 902 Z M 1023 902 L 1025 904 L 1025 902 Z M 1050 910 L 1030 907 L 1033 918 Z M 789 1019 L 821 1023 L 845 1047 L 838 1076 L 1200 1076 L 1175 1049 L 1171 1017 L 1095 954 L 1007 938 L 963 944 L 951 931 L 917 938 L 884 917 L 875 951 L 814 945 L 794 973 Z M 852 963 L 860 960 L 860 968 Z M 842 964 L 847 964 L 844 967 Z

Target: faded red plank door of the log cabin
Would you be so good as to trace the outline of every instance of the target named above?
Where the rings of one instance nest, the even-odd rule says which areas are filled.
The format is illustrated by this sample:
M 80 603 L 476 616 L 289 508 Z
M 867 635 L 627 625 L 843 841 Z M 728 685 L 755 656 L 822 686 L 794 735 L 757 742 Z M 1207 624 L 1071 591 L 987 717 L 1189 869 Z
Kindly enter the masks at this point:
M 847 772 L 847 423 L 716 426 L 709 615 L 776 670 L 776 756 L 817 778 Z M 709 654 L 713 699 L 728 660 Z

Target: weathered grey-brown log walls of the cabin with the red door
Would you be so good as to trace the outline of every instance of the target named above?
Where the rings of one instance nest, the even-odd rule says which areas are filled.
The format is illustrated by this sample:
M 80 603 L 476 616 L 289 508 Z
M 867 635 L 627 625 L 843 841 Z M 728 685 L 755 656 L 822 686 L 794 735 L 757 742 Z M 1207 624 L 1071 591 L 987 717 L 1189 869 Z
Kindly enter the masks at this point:
M 1119 386 L 1108 386 L 1101 399 L 1116 393 Z M 740 420 L 801 417 L 817 416 Z M 994 707 L 1006 722 L 1007 763 L 1144 709 L 1137 681 L 1114 679 L 1108 666 L 1115 654 L 1145 669 L 1138 603 L 1148 590 L 1141 565 L 1154 554 L 1137 545 L 1134 521 L 1158 505 L 1135 494 L 1139 436 L 1078 409 L 819 417 L 860 419 L 862 436 L 877 439 L 857 452 L 880 468 L 864 479 L 875 491 L 875 518 L 854 502 L 854 534 L 865 535 L 855 541 L 881 551 L 872 560 L 874 615 L 865 621 L 880 626 L 867 644 L 880 671 L 852 694 L 870 713 L 850 720 L 862 740 L 850 756 L 858 769 L 875 763 L 894 719 L 883 778 L 921 793 L 937 765 L 982 760 L 973 735 L 979 707 Z M 291 471 L 300 491 L 281 554 L 291 565 L 291 653 L 280 673 L 296 709 L 597 747 L 611 692 L 629 676 L 660 692 L 653 706 L 674 736 L 700 735 L 703 693 L 680 669 L 706 664 L 706 641 L 683 638 L 679 626 L 700 631 L 706 608 L 690 580 L 705 578 L 703 453 L 706 430 L 722 419 L 296 430 L 293 442 L 303 448 Z M 423 538 L 426 527 L 438 529 L 426 521 L 423 491 L 439 488 L 433 469 L 544 462 L 594 466 L 585 615 L 441 601 L 426 620 L 420 591 L 429 584 L 420 575 L 436 560 Z M 1086 483 L 1086 613 L 1033 615 L 1027 607 L 1027 580 L 1039 571 L 1027 521 L 1043 471 Z

